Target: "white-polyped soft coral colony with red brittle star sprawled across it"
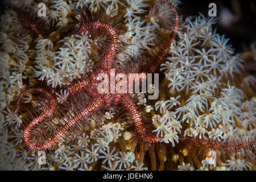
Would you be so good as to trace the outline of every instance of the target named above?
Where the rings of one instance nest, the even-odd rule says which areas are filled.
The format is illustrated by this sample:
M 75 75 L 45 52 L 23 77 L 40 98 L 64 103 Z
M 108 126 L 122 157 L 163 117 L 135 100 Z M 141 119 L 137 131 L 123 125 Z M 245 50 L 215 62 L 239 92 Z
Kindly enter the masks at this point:
M 5 3 L 1 169 L 255 170 L 255 77 L 215 18 L 177 0 Z

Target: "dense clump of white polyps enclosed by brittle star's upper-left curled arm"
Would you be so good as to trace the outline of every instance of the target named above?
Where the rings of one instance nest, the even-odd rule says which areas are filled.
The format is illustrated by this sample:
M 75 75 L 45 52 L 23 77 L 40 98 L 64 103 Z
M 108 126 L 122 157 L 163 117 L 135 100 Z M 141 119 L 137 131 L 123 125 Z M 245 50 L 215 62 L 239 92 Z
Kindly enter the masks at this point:
M 39 80 L 46 79 L 47 84 L 55 88 L 57 85 L 68 85 L 68 79 L 80 78 L 82 74 L 91 72 L 91 43 L 88 32 L 82 32 L 81 35 L 64 38 L 63 46 L 53 53 L 53 44 L 49 39 L 39 40 L 36 45 L 35 75 Z

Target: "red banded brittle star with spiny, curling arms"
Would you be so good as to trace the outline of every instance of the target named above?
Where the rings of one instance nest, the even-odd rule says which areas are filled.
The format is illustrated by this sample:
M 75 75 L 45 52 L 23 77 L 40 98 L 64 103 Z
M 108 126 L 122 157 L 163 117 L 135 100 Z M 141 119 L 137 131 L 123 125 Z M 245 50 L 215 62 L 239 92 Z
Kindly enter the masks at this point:
M 172 30 L 172 34 L 170 38 L 167 40 L 168 43 L 164 44 L 163 50 L 160 51 L 160 53 L 157 53 L 155 56 L 152 57 L 152 59 L 155 60 L 154 64 L 151 64 L 150 67 L 148 67 L 147 72 L 154 73 L 156 69 L 159 67 L 159 65 L 162 63 L 162 61 L 166 58 L 168 55 L 168 52 L 170 51 L 171 43 L 174 42 L 174 39 L 176 38 L 176 31 L 179 28 L 179 15 L 177 14 L 177 11 L 174 6 L 172 6 L 170 3 L 166 1 L 159 1 L 155 3 L 154 7 L 152 8 L 152 15 L 156 20 L 159 20 L 160 22 L 162 19 L 160 19 L 155 14 L 155 9 L 159 5 L 167 6 L 169 9 L 172 10 L 174 13 L 174 27 Z M 86 19 L 86 18 L 85 18 Z M 41 36 L 40 31 L 35 26 L 28 26 L 31 28 L 32 31 L 35 31 L 36 34 L 38 34 L 38 38 L 42 39 L 43 36 Z M 114 27 L 112 27 L 111 24 L 104 23 L 103 20 L 96 20 L 96 19 L 90 19 L 88 22 L 81 23 L 79 25 L 79 28 L 77 30 L 77 34 L 81 34 L 82 32 L 88 31 L 96 31 L 101 30 L 104 31 L 111 39 L 111 43 L 109 45 L 108 50 L 106 51 L 104 55 L 104 59 L 102 60 L 101 69 L 97 69 L 95 72 L 91 74 L 91 77 L 88 80 L 82 80 L 80 82 L 77 82 L 76 84 L 73 84 L 69 86 L 66 90 L 69 93 L 69 95 L 73 95 L 80 90 L 83 89 L 90 89 L 89 86 L 93 86 L 95 90 L 95 87 L 97 85 L 97 75 L 98 73 L 106 73 L 110 74 L 110 69 L 115 68 L 118 70 L 119 73 L 123 73 L 122 70 L 118 69 L 117 65 L 115 64 L 116 56 L 117 56 L 117 50 L 119 48 L 119 42 L 118 42 L 118 34 Z M 146 79 L 146 77 L 144 77 Z M 125 109 L 127 110 L 127 113 L 130 114 L 130 117 L 132 121 L 134 122 L 135 128 L 137 130 L 137 133 L 140 135 L 143 142 L 146 143 L 156 143 L 161 142 L 163 140 L 162 137 L 156 137 L 155 135 L 148 133 L 146 130 L 146 126 L 143 123 L 143 119 L 141 117 L 141 114 L 139 113 L 137 105 L 134 103 L 132 98 L 127 93 L 119 94 L 119 93 L 106 93 L 106 94 L 100 94 L 96 93 L 94 94 L 94 100 L 90 102 L 88 105 L 82 107 L 82 109 L 77 113 L 75 116 L 73 116 L 71 119 L 69 119 L 63 127 L 57 131 L 57 133 L 53 136 L 50 136 L 48 140 L 45 140 L 42 142 L 36 142 L 35 140 L 32 140 L 31 133 L 32 129 L 36 125 L 39 125 L 44 121 L 44 119 L 50 117 L 56 107 L 57 102 L 55 98 L 52 96 L 52 93 L 49 93 L 47 90 L 44 89 L 29 89 L 23 94 L 20 95 L 18 103 L 17 103 L 17 109 L 14 111 L 14 114 L 18 111 L 21 98 L 27 94 L 28 92 L 40 92 L 46 98 L 49 102 L 49 108 L 48 110 L 44 111 L 43 114 L 40 114 L 38 117 L 34 118 L 30 124 L 24 129 L 23 131 L 23 140 L 32 151 L 40 151 L 40 150 L 51 150 L 52 148 L 55 148 L 57 143 L 64 138 L 65 133 L 67 131 L 71 130 L 72 127 L 75 127 L 79 121 L 81 121 L 82 118 L 89 117 L 91 113 L 95 112 L 96 110 L 100 109 L 105 104 L 119 104 L 121 103 Z M 181 141 L 185 140 L 191 140 L 191 142 L 200 145 L 200 146 L 207 146 L 208 148 L 212 150 L 236 150 L 237 148 L 243 148 L 250 146 L 252 144 L 255 144 L 255 142 L 247 142 L 242 143 L 234 146 L 224 146 L 212 142 L 208 142 L 202 139 L 198 138 L 191 138 L 191 137 L 183 137 L 183 135 L 179 135 L 179 138 Z

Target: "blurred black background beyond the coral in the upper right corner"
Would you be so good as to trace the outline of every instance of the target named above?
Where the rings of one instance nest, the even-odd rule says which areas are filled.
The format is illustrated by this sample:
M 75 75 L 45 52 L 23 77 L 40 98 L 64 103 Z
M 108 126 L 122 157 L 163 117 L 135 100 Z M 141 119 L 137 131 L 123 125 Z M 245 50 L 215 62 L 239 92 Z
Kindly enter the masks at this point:
M 220 18 L 214 25 L 219 34 L 225 34 L 229 43 L 236 48 L 236 52 L 243 52 L 256 42 L 256 1 L 254 0 L 182 0 L 181 13 L 184 16 L 203 13 L 208 17 L 209 3 L 217 5 L 217 17 Z M 228 10 L 232 18 L 224 13 Z

